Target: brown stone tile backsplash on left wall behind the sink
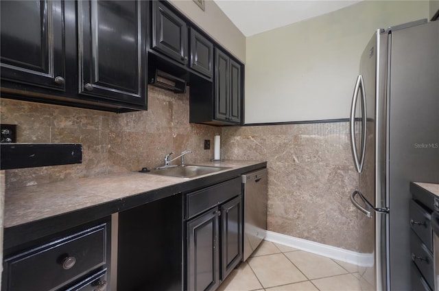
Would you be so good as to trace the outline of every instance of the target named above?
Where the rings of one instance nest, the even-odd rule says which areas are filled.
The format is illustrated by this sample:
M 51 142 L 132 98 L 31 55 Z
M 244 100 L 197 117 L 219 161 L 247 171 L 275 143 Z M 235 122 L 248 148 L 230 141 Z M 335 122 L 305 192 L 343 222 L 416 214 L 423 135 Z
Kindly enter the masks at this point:
M 16 124 L 19 143 L 82 143 L 82 164 L 8 170 L 6 189 L 163 164 L 165 154 L 193 150 L 187 163 L 213 158 L 204 139 L 220 128 L 189 124 L 189 88 L 174 94 L 148 86 L 148 110 L 108 113 L 1 98 L 1 123 Z M 178 162 L 178 161 L 176 161 Z

